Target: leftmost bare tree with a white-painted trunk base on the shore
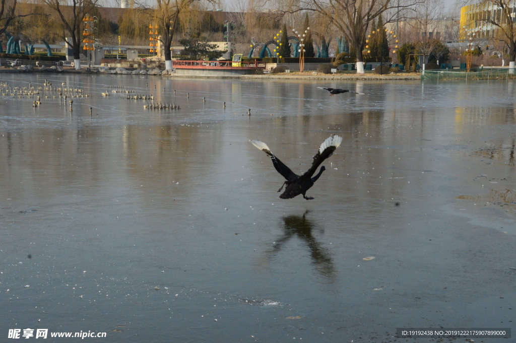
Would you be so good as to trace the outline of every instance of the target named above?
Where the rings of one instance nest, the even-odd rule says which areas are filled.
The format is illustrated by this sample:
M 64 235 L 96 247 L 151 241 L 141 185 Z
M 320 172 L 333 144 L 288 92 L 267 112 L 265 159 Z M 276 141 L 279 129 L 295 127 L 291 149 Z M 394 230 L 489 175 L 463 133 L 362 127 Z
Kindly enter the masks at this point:
M 83 18 L 99 6 L 99 0 L 42 0 L 54 10 L 62 26 L 62 38 L 72 48 L 75 69 L 80 69 Z M 67 37 L 70 36 L 70 37 Z M 71 42 L 67 39 L 70 38 Z

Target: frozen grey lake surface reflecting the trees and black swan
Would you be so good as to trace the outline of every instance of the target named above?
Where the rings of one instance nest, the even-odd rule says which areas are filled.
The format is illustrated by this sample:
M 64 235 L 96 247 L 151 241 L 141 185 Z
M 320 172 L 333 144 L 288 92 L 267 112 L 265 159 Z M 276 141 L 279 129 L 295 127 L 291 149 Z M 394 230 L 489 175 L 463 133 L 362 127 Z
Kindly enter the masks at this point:
M 45 78 L 91 97 L 70 112 Z M 0 75 L 29 81 L 39 107 L 0 96 L 0 341 L 30 328 L 393 342 L 396 328 L 514 326 L 513 81 Z M 279 199 L 284 179 L 249 140 L 302 173 L 333 134 L 315 200 Z

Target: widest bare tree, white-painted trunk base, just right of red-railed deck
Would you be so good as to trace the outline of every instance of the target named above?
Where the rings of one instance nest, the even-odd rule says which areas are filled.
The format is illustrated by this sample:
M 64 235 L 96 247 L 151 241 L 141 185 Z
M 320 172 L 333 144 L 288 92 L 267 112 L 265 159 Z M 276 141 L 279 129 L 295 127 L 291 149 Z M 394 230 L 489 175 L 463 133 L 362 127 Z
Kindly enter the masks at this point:
M 365 73 L 363 50 L 370 23 L 394 7 L 407 8 L 417 0 L 402 0 L 396 5 L 392 0 L 301 0 L 291 11 L 311 10 L 325 17 L 346 38 L 356 52 L 357 73 Z M 394 2 L 393 2 L 394 3 Z

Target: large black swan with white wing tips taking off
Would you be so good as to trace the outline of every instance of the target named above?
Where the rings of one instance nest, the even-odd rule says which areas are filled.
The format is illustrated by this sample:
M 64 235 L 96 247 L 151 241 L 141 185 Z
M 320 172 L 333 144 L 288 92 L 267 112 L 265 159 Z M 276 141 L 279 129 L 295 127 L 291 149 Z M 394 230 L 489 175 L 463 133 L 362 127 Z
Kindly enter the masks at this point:
M 256 146 L 256 148 L 262 150 L 270 156 L 270 158 L 272 159 L 272 164 L 274 165 L 278 173 L 283 175 L 283 177 L 286 179 L 281 188 L 278 190 L 278 192 L 280 192 L 286 185 L 285 191 L 283 192 L 283 194 L 280 195 L 281 199 L 292 199 L 299 194 L 303 194 L 304 199 L 312 200 L 314 198 L 307 197 L 305 193 L 314 185 L 314 182 L 317 181 L 319 176 L 321 176 L 322 172 L 326 170 L 325 166 L 322 166 L 319 169 L 317 175 L 315 175 L 314 177 L 312 177 L 312 175 L 321 165 L 322 161 L 330 157 L 335 151 L 335 149 L 337 149 L 338 146 L 341 145 L 342 137 L 334 135 L 328 137 L 324 142 L 322 142 L 321 146 L 319 147 L 319 150 L 317 151 L 317 154 L 315 154 L 315 156 L 313 157 L 314 161 L 312 162 L 312 167 L 310 167 L 310 169 L 301 176 L 296 175 L 292 170 L 285 166 L 283 162 L 278 159 L 278 157 L 272 154 L 267 144 L 259 140 L 250 140 L 250 142 L 254 146 Z

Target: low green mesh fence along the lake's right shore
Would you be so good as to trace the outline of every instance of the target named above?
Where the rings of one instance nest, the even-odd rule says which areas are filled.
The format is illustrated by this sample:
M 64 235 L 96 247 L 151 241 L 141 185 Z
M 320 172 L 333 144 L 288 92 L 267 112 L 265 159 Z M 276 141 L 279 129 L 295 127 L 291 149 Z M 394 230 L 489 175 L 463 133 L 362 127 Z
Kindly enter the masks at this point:
M 426 70 L 421 74 L 422 80 L 505 80 L 516 79 L 516 69 L 492 68 L 480 71 L 451 71 L 451 70 Z

